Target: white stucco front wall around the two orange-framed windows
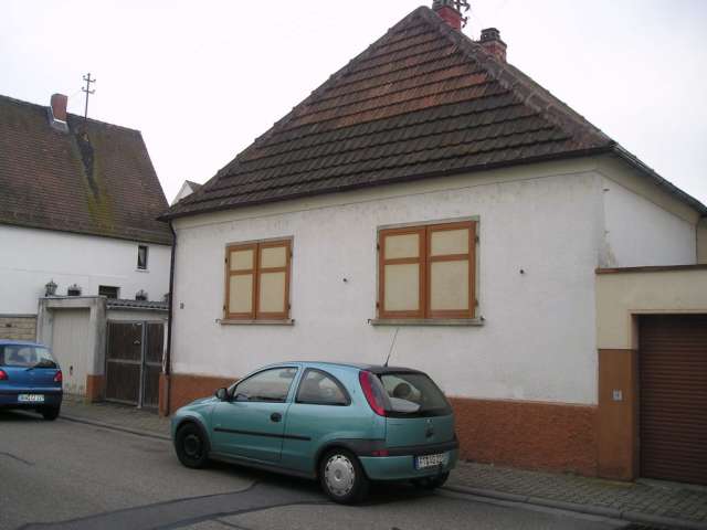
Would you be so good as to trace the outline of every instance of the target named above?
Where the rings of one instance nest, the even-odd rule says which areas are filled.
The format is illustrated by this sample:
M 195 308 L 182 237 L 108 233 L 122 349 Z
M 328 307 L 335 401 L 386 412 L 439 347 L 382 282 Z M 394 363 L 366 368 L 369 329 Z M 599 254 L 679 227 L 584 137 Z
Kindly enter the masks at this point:
M 593 404 L 601 186 L 591 163 L 573 161 L 177 220 L 173 371 L 382 363 L 395 328 L 368 324 L 377 227 L 478 216 L 484 326 L 401 327 L 391 363 L 429 372 L 450 395 Z M 294 239 L 295 325 L 219 324 L 226 244 L 281 236 Z

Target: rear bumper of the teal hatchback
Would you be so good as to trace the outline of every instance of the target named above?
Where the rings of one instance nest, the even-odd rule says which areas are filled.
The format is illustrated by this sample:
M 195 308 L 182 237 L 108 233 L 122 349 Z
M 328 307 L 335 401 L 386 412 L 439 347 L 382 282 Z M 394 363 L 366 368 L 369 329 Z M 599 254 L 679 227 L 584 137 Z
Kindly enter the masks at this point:
M 371 480 L 408 480 L 412 478 L 433 477 L 447 473 L 456 466 L 458 459 L 458 442 L 410 447 L 388 448 L 389 456 L 359 455 L 366 475 Z M 434 467 L 418 469 L 419 456 L 445 455 L 445 463 Z

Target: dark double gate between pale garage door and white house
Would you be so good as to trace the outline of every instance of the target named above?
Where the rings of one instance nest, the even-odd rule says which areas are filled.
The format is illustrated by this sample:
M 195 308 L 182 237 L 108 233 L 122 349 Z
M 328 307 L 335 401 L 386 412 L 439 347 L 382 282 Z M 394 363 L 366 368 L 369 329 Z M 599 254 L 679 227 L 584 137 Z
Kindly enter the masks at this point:
M 108 322 L 106 400 L 157 407 L 162 369 L 162 322 Z

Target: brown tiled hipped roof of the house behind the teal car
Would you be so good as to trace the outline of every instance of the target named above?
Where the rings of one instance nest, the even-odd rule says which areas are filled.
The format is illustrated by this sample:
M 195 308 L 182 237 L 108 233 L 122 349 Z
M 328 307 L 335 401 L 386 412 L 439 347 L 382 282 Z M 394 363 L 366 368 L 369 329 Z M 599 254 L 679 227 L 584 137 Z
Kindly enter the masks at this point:
M 163 218 L 601 152 L 621 156 L 707 213 L 422 7 Z

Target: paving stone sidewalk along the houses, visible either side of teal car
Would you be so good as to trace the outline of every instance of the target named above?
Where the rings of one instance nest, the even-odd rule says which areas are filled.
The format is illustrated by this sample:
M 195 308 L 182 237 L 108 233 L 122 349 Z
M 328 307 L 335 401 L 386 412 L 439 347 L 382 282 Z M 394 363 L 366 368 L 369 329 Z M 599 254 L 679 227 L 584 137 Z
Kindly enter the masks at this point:
M 168 418 L 130 406 L 86 404 L 80 398 L 64 396 L 62 416 L 147 436 L 169 437 Z M 453 471 L 447 488 L 666 528 L 707 530 L 707 487 L 700 486 L 645 480 L 616 483 L 464 462 Z

